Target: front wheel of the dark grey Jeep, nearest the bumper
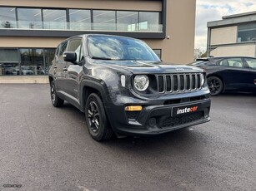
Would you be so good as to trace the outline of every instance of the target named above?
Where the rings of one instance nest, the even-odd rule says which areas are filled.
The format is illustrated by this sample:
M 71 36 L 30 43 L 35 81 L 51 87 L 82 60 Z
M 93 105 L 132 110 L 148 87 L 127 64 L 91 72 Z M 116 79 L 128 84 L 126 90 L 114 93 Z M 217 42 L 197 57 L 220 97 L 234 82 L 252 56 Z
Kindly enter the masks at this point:
M 109 140 L 113 130 L 109 125 L 103 102 L 97 94 L 90 94 L 85 104 L 85 120 L 93 140 Z

